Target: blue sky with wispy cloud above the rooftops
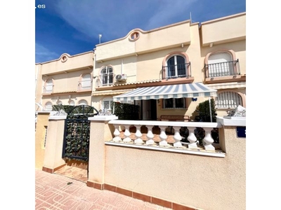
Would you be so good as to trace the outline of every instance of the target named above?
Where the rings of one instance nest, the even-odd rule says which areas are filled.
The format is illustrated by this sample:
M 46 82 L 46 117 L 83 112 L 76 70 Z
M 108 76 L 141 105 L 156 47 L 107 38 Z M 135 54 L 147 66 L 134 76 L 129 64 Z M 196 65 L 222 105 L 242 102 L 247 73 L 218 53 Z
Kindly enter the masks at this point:
M 44 4 L 45 8 L 38 8 Z M 35 0 L 35 63 L 76 55 L 101 43 L 175 22 L 246 12 L 245 0 Z

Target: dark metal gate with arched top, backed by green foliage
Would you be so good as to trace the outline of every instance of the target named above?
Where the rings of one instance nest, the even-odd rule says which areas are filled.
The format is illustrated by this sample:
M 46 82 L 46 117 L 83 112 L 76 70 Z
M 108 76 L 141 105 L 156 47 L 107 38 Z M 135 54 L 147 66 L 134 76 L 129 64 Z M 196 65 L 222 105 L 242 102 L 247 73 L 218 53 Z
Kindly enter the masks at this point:
M 90 121 L 98 111 L 93 106 L 73 106 L 65 119 L 63 158 L 89 160 Z

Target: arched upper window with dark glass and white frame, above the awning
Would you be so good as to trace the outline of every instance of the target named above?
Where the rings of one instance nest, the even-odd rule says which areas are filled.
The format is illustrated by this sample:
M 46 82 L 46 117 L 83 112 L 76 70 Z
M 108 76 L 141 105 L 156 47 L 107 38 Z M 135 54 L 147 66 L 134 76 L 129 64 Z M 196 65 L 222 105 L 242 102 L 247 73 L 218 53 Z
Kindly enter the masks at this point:
M 185 58 L 174 55 L 167 60 L 167 78 L 178 78 L 186 76 Z

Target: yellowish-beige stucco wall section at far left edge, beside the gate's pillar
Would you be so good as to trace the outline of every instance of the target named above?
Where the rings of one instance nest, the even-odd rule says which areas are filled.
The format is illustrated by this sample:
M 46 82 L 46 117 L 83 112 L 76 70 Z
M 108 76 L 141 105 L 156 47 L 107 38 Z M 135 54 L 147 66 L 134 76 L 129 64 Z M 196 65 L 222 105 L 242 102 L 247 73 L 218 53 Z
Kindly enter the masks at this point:
M 44 154 L 45 154 L 45 134 L 46 127 L 48 127 L 48 112 L 46 113 L 38 113 L 37 116 L 37 125 L 35 131 L 35 168 L 41 169 L 43 167 L 44 162 Z

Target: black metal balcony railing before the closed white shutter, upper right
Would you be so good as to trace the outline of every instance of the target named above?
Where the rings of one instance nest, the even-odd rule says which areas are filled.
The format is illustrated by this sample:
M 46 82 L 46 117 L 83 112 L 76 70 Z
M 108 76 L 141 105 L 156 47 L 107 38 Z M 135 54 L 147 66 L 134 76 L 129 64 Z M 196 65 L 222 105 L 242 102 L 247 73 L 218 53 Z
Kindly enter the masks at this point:
M 205 64 L 205 78 L 240 75 L 239 59 L 230 62 Z

